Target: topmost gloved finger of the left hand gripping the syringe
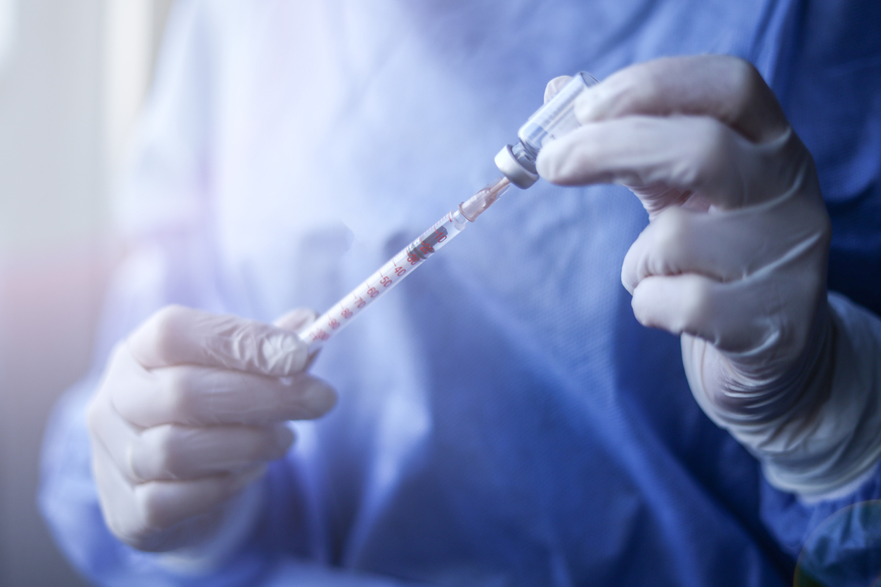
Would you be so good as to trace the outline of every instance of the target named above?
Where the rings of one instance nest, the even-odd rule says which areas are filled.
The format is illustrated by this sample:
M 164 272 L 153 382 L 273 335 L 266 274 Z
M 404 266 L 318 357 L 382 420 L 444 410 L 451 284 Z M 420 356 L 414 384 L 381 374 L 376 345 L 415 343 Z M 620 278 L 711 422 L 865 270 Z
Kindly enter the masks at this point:
M 286 377 L 302 371 L 308 358 L 306 343 L 289 330 L 179 305 L 153 314 L 128 345 L 147 369 L 197 364 Z

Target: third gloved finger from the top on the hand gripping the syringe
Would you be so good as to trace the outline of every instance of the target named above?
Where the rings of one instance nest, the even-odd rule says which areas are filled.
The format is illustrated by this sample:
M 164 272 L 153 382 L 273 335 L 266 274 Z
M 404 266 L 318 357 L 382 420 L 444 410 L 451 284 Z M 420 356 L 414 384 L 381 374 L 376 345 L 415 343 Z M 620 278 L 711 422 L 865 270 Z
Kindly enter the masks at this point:
M 284 424 L 204 428 L 165 424 L 134 438 L 121 468 L 138 482 L 198 479 L 280 459 L 292 443 L 293 432 Z

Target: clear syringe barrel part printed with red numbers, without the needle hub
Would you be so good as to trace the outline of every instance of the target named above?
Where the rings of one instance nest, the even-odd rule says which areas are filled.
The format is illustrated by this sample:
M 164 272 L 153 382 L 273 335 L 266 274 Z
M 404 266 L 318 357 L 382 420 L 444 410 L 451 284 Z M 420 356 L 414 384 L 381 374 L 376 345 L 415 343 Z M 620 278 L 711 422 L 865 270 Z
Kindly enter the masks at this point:
M 370 275 L 348 296 L 324 313 L 315 324 L 307 330 L 304 338 L 310 343 L 320 345 L 330 338 L 334 331 L 359 314 L 364 308 L 372 304 L 375 299 L 381 297 L 386 291 L 400 282 L 412 269 L 421 265 L 428 257 L 441 249 L 448 240 L 463 231 L 467 222 L 456 210 L 441 218 L 419 238 L 414 240 L 400 253 L 392 257 L 379 271 Z

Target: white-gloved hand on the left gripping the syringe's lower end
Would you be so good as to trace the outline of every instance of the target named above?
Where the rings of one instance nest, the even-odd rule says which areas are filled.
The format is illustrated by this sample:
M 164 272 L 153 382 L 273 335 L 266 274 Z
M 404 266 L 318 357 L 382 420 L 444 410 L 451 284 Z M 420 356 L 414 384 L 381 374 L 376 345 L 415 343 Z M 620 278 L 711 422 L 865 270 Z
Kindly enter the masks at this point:
M 314 319 L 295 310 L 273 327 L 167 306 L 116 346 L 88 427 L 117 538 L 149 551 L 197 547 L 242 517 L 247 506 L 230 500 L 288 450 L 285 421 L 336 401 L 304 371 L 307 346 L 293 332 Z M 248 530 L 248 520 L 232 524 Z

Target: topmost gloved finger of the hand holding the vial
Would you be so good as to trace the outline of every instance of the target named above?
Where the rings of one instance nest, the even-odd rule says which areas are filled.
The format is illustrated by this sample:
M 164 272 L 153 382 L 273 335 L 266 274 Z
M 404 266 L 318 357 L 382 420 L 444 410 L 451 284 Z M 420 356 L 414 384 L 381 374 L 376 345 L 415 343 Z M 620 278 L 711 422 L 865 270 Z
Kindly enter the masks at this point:
M 619 70 L 581 94 L 581 124 L 635 114 L 710 116 L 754 143 L 788 128 L 774 92 L 751 63 L 729 55 L 668 57 Z

